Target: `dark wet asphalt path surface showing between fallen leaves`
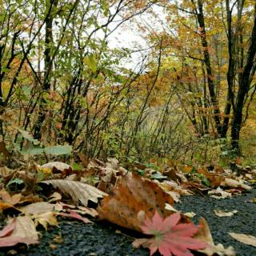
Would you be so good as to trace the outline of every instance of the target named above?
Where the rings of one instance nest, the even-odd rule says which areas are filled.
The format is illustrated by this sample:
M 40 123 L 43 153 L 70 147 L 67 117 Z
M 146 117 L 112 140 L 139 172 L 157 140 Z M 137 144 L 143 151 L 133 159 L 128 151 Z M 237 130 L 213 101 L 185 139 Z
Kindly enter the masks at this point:
M 256 236 L 256 204 L 248 202 L 256 198 L 256 189 L 242 196 L 227 199 L 215 199 L 202 196 L 182 197 L 182 203 L 176 204 L 182 212 L 194 211 L 193 218 L 198 222 L 200 216 L 206 218 L 215 243 L 234 246 L 238 256 L 256 256 L 256 247 L 236 242 L 228 232 L 251 234 Z M 238 210 L 232 217 L 220 218 L 214 209 Z M 85 225 L 82 222 L 62 221 L 58 228 L 42 232 L 42 241 L 38 246 L 26 250 L 18 248 L 17 256 L 131 256 L 149 255 L 149 250 L 134 250 L 133 241 L 127 235 L 116 233 L 117 227 L 107 223 Z M 17 250 L 17 248 L 14 248 Z M 10 255 L 8 250 L 0 251 L 0 256 Z M 155 254 L 159 255 L 159 254 Z

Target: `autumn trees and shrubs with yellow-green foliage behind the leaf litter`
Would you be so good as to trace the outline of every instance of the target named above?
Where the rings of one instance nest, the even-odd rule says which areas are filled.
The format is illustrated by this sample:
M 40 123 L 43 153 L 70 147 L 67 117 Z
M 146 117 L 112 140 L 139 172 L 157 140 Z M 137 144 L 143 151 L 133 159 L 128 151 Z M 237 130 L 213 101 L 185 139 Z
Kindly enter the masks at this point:
M 255 163 L 254 0 L 0 6 L 3 159 Z M 129 30 L 142 43 L 110 43 Z

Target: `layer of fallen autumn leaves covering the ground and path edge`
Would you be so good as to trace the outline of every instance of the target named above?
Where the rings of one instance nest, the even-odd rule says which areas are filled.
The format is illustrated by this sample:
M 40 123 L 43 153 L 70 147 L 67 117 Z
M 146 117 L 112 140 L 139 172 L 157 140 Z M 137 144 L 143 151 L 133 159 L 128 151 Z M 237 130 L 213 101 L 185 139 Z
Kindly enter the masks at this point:
M 148 248 L 150 255 L 157 251 L 163 256 L 236 255 L 232 246 L 214 243 L 205 218 L 198 218 L 196 225 L 195 214 L 186 212 L 186 205 L 184 212 L 177 209 L 182 198 L 193 194 L 218 200 L 244 194 L 254 185 L 256 170 L 238 164 L 234 170 L 154 168 L 139 162 L 124 168 L 115 158 L 102 162 L 81 154 L 80 159 L 81 170 L 63 162 L 0 168 L 0 250 L 26 253 L 26 246 L 40 243 L 40 230 L 52 230 L 61 225 L 62 218 L 70 218 L 84 225 L 104 220 L 122 230 L 134 230 L 129 231 L 134 234 L 134 255 L 140 246 Z M 214 215 L 231 218 L 237 212 L 216 209 Z M 246 230 L 229 235 L 256 246 L 256 238 Z

